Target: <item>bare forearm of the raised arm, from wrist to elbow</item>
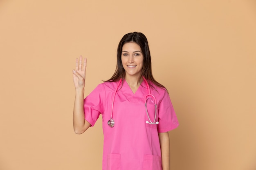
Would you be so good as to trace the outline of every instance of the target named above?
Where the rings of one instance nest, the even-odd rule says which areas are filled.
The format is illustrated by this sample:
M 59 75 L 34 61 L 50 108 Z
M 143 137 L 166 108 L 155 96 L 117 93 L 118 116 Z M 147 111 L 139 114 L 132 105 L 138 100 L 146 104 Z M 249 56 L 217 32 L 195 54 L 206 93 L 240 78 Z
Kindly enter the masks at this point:
M 84 89 L 76 89 L 76 96 L 73 111 L 73 126 L 76 134 L 85 132 L 90 127 L 88 121 L 85 120 L 83 108 Z

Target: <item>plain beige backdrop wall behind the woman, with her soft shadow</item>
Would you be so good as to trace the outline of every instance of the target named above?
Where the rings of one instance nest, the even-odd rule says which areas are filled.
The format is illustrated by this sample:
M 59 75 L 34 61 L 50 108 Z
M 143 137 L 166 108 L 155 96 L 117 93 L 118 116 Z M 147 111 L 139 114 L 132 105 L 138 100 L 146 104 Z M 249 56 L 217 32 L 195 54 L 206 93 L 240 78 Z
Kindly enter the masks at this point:
M 72 69 L 85 95 L 141 31 L 180 121 L 172 170 L 256 170 L 255 0 L 0 0 L 0 170 L 100 170 L 101 118 L 75 135 Z

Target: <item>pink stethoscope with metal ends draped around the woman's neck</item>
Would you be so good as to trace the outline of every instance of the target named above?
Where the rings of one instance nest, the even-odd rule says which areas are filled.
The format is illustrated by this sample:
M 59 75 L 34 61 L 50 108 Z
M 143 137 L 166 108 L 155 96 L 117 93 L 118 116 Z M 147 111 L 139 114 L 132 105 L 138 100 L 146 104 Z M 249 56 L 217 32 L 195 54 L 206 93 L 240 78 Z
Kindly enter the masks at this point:
M 143 76 L 142 76 L 142 77 L 143 77 Z M 155 99 L 155 96 L 154 96 L 154 95 L 151 95 L 148 82 L 146 81 L 146 79 L 145 79 L 144 77 L 143 77 L 143 79 L 144 79 L 144 81 L 145 81 L 145 83 L 146 83 L 146 85 L 147 85 L 147 88 L 148 88 L 148 94 L 145 96 L 145 107 L 146 107 L 146 113 L 147 113 L 147 115 L 148 115 L 148 120 L 149 120 L 149 121 L 146 121 L 146 123 L 147 123 L 147 124 L 159 124 L 158 121 L 157 121 L 157 122 L 155 121 L 156 118 L 157 118 L 157 102 L 156 102 L 157 100 Z M 121 82 L 122 82 L 122 79 L 120 79 L 119 82 L 118 82 L 118 84 L 117 84 L 117 88 L 116 88 L 116 90 L 115 90 L 115 92 L 114 92 L 114 97 L 113 97 L 113 101 L 112 101 L 111 117 L 110 117 L 110 120 L 108 121 L 108 125 L 109 125 L 111 128 L 114 127 L 114 125 L 115 125 L 115 120 L 113 119 L 113 106 L 114 106 L 115 96 L 116 96 L 116 94 L 117 94 L 117 89 L 118 89 L 118 87 L 120 86 Z M 148 96 L 151 96 L 151 97 L 153 97 L 153 99 L 154 99 L 154 105 L 155 105 L 155 118 L 154 118 L 154 121 L 151 121 L 151 119 L 150 119 L 150 117 L 149 117 L 149 114 L 148 114 L 148 108 L 147 108 L 147 97 L 148 97 Z

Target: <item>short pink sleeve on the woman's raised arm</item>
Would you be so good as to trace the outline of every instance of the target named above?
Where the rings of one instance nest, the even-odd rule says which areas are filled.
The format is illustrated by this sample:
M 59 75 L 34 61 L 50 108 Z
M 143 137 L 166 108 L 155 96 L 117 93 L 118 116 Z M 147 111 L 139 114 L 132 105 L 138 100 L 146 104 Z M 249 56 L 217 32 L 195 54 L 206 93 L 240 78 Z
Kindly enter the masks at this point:
M 102 84 L 99 84 L 87 97 L 85 97 L 83 101 L 85 120 L 92 126 L 96 123 L 99 115 L 104 112 L 105 101 L 106 93 Z

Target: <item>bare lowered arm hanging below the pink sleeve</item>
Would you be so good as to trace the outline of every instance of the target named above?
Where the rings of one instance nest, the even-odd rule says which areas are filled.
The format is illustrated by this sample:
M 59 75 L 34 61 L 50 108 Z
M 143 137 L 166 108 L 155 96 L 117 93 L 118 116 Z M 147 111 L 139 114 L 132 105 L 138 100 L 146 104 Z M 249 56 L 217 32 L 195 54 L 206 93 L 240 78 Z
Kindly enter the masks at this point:
M 163 170 L 170 170 L 170 140 L 168 132 L 159 133 Z

